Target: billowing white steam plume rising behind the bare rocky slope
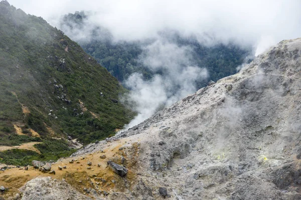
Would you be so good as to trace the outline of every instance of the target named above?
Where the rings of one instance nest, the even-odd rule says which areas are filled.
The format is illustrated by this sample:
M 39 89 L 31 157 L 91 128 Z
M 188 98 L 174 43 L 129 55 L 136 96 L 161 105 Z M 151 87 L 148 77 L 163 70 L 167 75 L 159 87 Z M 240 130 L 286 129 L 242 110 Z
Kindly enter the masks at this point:
M 138 115 L 128 124 L 128 129 L 149 118 L 158 109 L 170 106 L 182 97 L 197 90 L 196 81 L 208 77 L 206 68 L 191 66 L 190 47 L 179 47 L 157 40 L 143 49 L 140 62 L 150 69 L 167 71 L 144 81 L 141 74 L 134 73 L 125 84 L 131 88 L 129 100 L 136 103 Z

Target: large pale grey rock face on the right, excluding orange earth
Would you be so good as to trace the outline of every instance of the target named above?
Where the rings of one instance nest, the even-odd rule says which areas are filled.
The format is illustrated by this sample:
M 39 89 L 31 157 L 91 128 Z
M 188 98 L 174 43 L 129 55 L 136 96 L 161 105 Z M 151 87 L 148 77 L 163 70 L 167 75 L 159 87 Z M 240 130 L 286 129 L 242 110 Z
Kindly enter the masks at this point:
M 139 176 L 107 199 L 163 199 L 160 187 L 170 199 L 301 199 L 300 51 L 301 39 L 282 41 L 112 138 L 139 144 Z

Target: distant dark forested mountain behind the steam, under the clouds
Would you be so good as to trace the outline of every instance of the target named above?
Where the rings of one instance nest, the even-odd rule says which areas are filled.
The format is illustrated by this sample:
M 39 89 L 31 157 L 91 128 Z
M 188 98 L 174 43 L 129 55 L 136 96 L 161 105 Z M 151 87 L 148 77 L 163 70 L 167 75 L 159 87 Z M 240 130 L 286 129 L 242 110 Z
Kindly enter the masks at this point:
M 72 35 L 85 33 L 86 38 L 75 39 L 81 47 L 98 63 L 104 66 L 119 81 L 123 81 L 134 72 L 143 74 L 147 80 L 154 74 L 164 74 L 164 70 L 152 70 L 141 62 L 143 49 L 153 44 L 156 40 L 145 41 L 112 41 L 112 34 L 104 27 L 87 25 L 89 13 L 76 12 L 65 15 L 61 20 L 60 28 Z M 89 26 L 89 28 L 87 28 Z M 88 31 L 87 31 L 88 29 Z M 175 31 L 164 31 L 158 34 L 161 39 L 179 47 L 185 46 L 191 49 L 192 65 L 205 67 L 209 72 L 207 80 L 198 82 L 198 87 L 203 87 L 208 80 L 218 80 L 236 73 L 237 66 L 241 65 L 250 54 L 251 48 L 241 48 L 234 44 L 215 44 L 213 46 L 202 45 L 194 37 L 184 38 Z M 163 66 L 164 67 L 164 66 Z

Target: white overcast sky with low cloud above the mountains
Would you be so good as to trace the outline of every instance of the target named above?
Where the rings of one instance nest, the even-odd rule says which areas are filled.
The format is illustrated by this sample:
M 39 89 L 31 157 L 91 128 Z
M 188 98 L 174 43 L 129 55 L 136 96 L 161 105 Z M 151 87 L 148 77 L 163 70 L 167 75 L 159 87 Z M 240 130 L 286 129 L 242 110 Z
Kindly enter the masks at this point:
M 156 37 L 165 28 L 200 40 L 235 40 L 252 44 L 257 54 L 283 39 L 301 36 L 300 0 L 10 0 L 26 13 L 57 26 L 61 15 L 92 11 L 93 21 L 108 28 L 118 40 Z

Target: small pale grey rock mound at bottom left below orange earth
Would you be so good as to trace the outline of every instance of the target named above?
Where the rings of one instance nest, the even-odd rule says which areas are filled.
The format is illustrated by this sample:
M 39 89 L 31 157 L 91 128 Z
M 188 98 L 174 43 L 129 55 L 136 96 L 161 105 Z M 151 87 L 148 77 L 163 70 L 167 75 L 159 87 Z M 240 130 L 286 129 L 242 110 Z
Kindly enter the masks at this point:
M 53 180 L 51 177 L 36 178 L 28 181 L 22 191 L 22 200 L 90 199 L 72 188 L 66 181 Z

